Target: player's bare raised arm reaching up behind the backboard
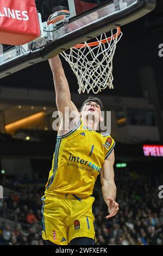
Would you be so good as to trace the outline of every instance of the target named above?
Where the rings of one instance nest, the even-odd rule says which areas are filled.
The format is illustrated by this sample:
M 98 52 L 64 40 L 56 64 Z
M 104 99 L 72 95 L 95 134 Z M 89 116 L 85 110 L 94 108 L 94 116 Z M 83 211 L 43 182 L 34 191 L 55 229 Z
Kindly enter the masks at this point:
M 63 115 L 65 113 L 65 107 L 69 107 L 70 112 L 78 111 L 76 106 L 71 102 L 70 89 L 59 56 L 49 59 L 49 64 L 53 73 L 58 111 L 62 112 Z

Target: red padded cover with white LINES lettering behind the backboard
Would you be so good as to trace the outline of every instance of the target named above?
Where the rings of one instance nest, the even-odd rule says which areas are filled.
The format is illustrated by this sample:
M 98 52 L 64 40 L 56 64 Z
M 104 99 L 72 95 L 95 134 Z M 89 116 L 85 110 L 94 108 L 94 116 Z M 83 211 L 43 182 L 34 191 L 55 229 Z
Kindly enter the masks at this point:
M 39 35 L 35 0 L 0 1 L 0 44 L 22 45 Z

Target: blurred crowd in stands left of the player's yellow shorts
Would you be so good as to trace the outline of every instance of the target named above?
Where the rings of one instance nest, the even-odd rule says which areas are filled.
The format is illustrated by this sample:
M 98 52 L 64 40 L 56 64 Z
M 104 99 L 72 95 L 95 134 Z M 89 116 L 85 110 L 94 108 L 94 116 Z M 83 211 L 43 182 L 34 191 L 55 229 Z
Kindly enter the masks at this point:
M 4 187 L 13 191 L 0 206 L 0 216 L 8 219 L 0 225 L 0 245 L 44 245 L 41 238 L 41 196 L 42 188 L 24 185 L 4 178 Z M 10 221 L 15 221 L 14 227 Z

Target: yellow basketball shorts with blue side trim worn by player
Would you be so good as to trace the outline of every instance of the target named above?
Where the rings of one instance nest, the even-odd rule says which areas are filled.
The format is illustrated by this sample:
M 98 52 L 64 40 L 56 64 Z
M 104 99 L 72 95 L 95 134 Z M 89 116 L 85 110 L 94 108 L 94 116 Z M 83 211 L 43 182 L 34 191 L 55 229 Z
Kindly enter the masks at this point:
M 57 245 L 68 245 L 76 237 L 90 237 L 96 241 L 92 214 L 94 200 L 94 197 L 78 200 L 72 195 L 65 198 L 43 196 L 43 240 Z

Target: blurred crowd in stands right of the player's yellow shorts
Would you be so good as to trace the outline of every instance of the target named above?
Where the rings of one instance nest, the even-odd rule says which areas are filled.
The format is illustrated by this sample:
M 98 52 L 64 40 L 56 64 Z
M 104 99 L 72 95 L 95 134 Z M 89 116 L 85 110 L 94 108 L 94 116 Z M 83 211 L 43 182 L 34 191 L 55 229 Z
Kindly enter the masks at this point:
M 99 245 L 163 245 L 163 204 L 158 180 L 146 175 L 117 175 L 120 211 L 105 219 L 106 206 L 95 202 L 96 235 Z

